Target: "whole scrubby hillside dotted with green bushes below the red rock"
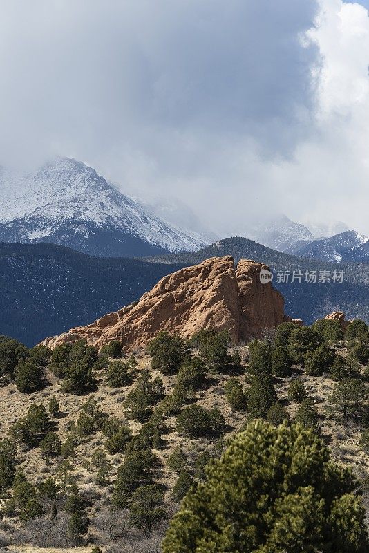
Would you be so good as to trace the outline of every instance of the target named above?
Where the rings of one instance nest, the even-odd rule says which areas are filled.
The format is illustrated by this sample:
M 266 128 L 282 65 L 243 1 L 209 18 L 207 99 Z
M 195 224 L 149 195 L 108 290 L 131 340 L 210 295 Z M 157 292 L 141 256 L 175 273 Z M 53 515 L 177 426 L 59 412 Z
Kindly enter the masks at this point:
M 226 332 L 204 330 L 191 340 L 160 332 L 134 355 L 116 341 L 100 352 L 82 341 L 51 352 L 1 337 L 0 546 L 305 552 L 313 527 L 327 552 L 365 552 L 368 362 L 368 326 L 359 320 L 345 335 L 337 321 L 284 323 L 238 346 Z M 299 463 L 311 470 L 304 474 L 294 473 L 296 443 L 305 443 Z M 281 455 L 275 444 L 285 444 L 291 460 L 272 469 L 265 451 L 277 447 Z M 261 495 L 243 507 L 254 521 L 247 532 L 256 533 L 236 539 L 219 522 L 225 513 L 217 514 L 215 505 L 221 489 L 227 501 L 242 504 L 238 494 L 248 497 L 242 486 L 247 489 L 250 476 L 239 474 L 234 481 L 241 487 L 232 491 L 225 483 L 234 478 L 229 467 L 235 463 L 244 471 L 256 458 L 250 490 Z M 273 481 L 281 481 L 274 491 L 271 469 L 278 471 Z M 294 483 L 296 474 L 301 480 Z M 290 482 L 287 488 L 283 481 Z M 209 500 L 205 514 L 198 502 L 214 493 L 218 499 Z M 296 512 L 304 504 L 306 512 Z M 198 509 L 205 518 L 191 537 L 195 526 L 186 513 L 198 516 Z M 213 516 L 218 529 L 209 537 Z M 294 527 L 301 543 L 292 549 Z

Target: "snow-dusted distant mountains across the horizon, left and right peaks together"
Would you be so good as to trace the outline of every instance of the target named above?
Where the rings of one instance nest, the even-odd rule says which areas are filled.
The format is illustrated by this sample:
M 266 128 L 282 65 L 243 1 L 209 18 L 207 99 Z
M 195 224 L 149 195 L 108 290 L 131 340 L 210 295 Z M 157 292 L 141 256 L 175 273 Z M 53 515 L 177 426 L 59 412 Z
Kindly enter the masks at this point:
M 95 169 L 70 158 L 28 174 L 0 167 L 0 194 L 3 242 L 48 242 L 95 256 L 144 257 L 196 252 L 219 238 L 180 200 L 129 198 Z M 314 235 L 284 214 L 239 223 L 234 221 L 243 229 L 238 236 L 279 252 L 325 261 L 369 260 L 368 238 L 354 231 L 321 239 L 343 223 L 315 226 Z

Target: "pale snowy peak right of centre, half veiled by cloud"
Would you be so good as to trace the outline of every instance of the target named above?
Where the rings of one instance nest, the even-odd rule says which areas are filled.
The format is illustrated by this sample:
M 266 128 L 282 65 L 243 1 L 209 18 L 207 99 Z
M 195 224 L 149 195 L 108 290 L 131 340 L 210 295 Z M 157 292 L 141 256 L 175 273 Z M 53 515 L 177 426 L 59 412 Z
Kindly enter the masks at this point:
M 300 247 L 314 240 L 307 227 L 301 223 L 294 223 L 285 215 L 263 221 L 249 232 L 247 238 L 289 254 L 294 254 Z

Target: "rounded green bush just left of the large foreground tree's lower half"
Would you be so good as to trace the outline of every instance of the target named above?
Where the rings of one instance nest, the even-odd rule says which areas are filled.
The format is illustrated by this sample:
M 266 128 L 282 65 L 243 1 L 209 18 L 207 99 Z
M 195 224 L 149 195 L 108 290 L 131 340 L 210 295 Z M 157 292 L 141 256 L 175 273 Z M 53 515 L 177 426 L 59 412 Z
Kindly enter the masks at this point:
M 157 484 L 140 486 L 133 493 L 129 519 L 134 526 L 143 530 L 145 536 L 149 536 L 164 518 L 163 501 L 164 493 Z

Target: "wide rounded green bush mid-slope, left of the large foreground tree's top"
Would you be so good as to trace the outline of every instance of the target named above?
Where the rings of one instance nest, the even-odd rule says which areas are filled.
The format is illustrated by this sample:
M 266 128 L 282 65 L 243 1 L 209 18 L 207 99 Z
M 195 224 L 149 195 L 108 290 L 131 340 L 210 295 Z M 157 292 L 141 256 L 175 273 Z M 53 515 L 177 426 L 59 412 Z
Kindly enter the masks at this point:
M 176 429 L 179 434 L 190 438 L 214 435 L 221 431 L 225 419 L 219 409 L 205 409 L 200 405 L 189 405 L 178 415 Z

